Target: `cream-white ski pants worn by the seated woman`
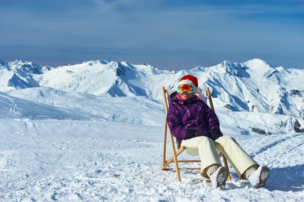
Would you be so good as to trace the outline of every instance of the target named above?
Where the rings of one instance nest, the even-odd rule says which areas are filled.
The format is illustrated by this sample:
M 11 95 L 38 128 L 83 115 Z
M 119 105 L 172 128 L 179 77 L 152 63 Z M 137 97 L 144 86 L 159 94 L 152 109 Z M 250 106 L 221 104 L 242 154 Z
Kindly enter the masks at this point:
M 221 151 L 240 178 L 250 166 L 257 164 L 231 136 L 222 136 L 215 141 L 200 136 L 183 140 L 180 146 L 186 147 L 186 154 L 201 157 L 201 175 L 205 178 L 209 178 L 204 172 L 207 167 L 213 164 L 221 165 L 218 157 L 218 153 Z

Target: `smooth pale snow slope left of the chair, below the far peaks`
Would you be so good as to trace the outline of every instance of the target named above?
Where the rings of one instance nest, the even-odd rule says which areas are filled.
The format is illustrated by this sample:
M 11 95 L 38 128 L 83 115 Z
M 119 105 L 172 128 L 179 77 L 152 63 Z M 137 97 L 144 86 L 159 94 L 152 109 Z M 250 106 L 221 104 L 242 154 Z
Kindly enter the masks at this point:
M 118 122 L 161 126 L 163 123 L 159 121 L 159 118 L 165 118 L 162 103 L 142 96 L 100 97 L 85 93 L 68 93 L 49 87 L 14 90 L 8 92 L 8 94 L 50 107 L 59 107 L 66 111 L 90 114 L 91 119 L 96 120 L 115 120 Z M 147 113 L 149 110 L 153 111 Z M 81 118 L 73 115 L 70 115 L 68 119 L 81 120 Z

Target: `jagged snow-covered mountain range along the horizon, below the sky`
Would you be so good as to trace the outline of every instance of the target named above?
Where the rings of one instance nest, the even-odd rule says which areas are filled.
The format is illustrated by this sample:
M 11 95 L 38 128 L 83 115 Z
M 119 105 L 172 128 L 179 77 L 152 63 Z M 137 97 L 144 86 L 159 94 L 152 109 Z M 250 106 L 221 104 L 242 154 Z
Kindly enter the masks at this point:
M 50 87 L 102 97 L 145 96 L 160 101 L 162 86 L 172 89 L 180 77 L 193 74 L 202 88 L 210 87 L 218 105 L 232 111 L 304 118 L 304 70 L 275 68 L 260 59 L 244 63 L 224 61 L 212 67 L 181 71 L 100 60 L 56 68 L 22 60 L 2 61 L 0 69 L 1 92 Z

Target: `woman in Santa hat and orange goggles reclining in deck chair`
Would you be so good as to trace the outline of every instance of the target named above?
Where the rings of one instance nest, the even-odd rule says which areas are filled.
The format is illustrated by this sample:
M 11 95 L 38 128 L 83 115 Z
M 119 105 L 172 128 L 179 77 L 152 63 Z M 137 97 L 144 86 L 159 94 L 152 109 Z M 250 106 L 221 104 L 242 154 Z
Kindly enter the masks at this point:
M 221 166 L 222 151 L 241 179 L 248 179 L 254 188 L 264 187 L 269 176 L 266 166 L 259 166 L 231 136 L 223 136 L 219 120 L 211 108 L 195 93 L 200 92 L 198 79 L 183 76 L 177 92 L 170 95 L 167 120 L 169 129 L 185 152 L 200 155 L 201 175 L 211 179 L 214 188 L 225 188 L 229 171 Z

